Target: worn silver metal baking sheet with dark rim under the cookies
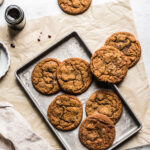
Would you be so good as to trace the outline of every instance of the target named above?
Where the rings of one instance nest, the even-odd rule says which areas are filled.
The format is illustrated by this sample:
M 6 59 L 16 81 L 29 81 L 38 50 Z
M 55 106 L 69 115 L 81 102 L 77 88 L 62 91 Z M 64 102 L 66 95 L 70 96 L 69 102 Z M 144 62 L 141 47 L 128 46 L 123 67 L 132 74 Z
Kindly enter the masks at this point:
M 90 63 L 91 52 L 81 40 L 79 35 L 76 32 L 73 32 L 16 71 L 17 80 L 19 81 L 27 95 L 30 97 L 31 101 L 35 104 L 42 117 L 45 119 L 46 123 L 52 129 L 52 131 L 54 132 L 58 140 L 61 142 L 63 147 L 66 150 L 87 150 L 87 148 L 80 143 L 78 138 L 78 131 L 80 125 L 78 126 L 78 128 L 72 131 L 64 132 L 55 129 L 48 121 L 47 109 L 49 104 L 57 95 L 60 95 L 63 92 L 59 92 L 51 96 L 45 96 L 37 92 L 32 85 L 31 74 L 35 65 L 39 61 L 47 57 L 57 58 L 60 61 L 63 61 L 64 59 L 69 57 L 79 57 Z M 135 133 L 137 133 L 141 129 L 141 123 L 138 121 L 133 111 L 130 109 L 122 95 L 119 93 L 116 85 L 100 83 L 96 81 L 96 79 L 93 80 L 91 86 L 86 92 L 77 96 L 83 104 L 82 121 L 86 117 L 85 104 L 87 99 L 93 92 L 101 88 L 111 88 L 112 90 L 114 90 L 121 98 L 123 103 L 122 116 L 115 126 L 116 138 L 111 147 L 108 148 L 108 150 L 111 150 L 119 146 L 125 140 L 133 136 Z

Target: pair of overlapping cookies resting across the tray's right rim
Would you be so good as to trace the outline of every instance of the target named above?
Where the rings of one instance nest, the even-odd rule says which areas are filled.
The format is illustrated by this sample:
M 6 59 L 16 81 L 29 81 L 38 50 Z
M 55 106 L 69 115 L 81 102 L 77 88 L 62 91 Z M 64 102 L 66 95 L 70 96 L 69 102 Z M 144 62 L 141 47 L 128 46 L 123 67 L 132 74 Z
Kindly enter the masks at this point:
M 119 83 L 140 59 L 141 46 L 131 33 L 117 32 L 91 58 L 91 71 L 102 82 Z

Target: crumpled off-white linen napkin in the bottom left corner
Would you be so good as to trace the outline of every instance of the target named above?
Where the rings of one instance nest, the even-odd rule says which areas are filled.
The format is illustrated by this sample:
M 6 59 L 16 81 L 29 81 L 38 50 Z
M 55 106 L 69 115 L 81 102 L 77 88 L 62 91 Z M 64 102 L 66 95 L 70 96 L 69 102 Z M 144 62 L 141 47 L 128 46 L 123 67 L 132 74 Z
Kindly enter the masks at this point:
M 0 150 L 53 150 L 13 105 L 0 102 Z

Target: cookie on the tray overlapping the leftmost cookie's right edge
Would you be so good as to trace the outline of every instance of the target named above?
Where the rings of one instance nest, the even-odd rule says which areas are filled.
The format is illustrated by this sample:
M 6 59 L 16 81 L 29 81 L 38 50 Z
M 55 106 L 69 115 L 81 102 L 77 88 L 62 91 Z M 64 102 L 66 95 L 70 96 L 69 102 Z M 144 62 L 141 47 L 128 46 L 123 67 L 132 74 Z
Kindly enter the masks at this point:
M 90 65 L 81 58 L 68 58 L 58 67 L 57 79 L 65 92 L 83 93 L 92 82 Z

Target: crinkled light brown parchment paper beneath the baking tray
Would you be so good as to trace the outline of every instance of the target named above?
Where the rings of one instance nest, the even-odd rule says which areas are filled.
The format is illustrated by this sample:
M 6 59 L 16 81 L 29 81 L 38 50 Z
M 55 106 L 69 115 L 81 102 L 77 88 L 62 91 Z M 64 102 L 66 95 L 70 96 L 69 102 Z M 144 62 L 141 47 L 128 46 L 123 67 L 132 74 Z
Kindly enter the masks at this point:
M 92 6 L 87 12 L 78 16 L 62 13 L 30 20 L 18 33 L 10 31 L 8 27 L 0 27 L 0 41 L 7 45 L 11 56 L 9 72 L 0 80 L 0 101 L 12 103 L 33 130 L 47 139 L 55 150 L 62 148 L 17 84 L 14 73 L 18 67 L 72 31 L 79 33 L 92 52 L 103 46 L 105 39 L 114 32 L 129 31 L 137 36 L 128 0 Z M 49 39 L 48 35 L 52 38 Z M 37 41 L 39 36 L 40 42 Z M 16 47 L 11 48 L 11 43 Z M 124 150 L 150 143 L 150 88 L 142 58 L 129 70 L 119 89 L 142 122 L 143 128 L 139 134 L 118 149 Z

